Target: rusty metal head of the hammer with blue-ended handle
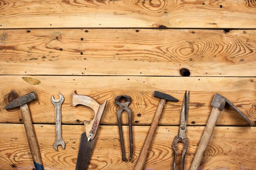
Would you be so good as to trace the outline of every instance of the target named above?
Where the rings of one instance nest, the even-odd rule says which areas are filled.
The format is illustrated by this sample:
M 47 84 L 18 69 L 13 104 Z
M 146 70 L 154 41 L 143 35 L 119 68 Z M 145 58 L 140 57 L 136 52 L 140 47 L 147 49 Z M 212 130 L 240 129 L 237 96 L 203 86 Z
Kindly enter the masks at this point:
M 36 92 L 31 92 L 29 94 L 26 94 L 24 96 L 21 96 L 19 98 L 14 99 L 11 101 L 8 105 L 4 107 L 4 109 L 11 109 L 15 107 L 20 107 L 28 102 L 31 102 L 33 100 L 37 100 Z

